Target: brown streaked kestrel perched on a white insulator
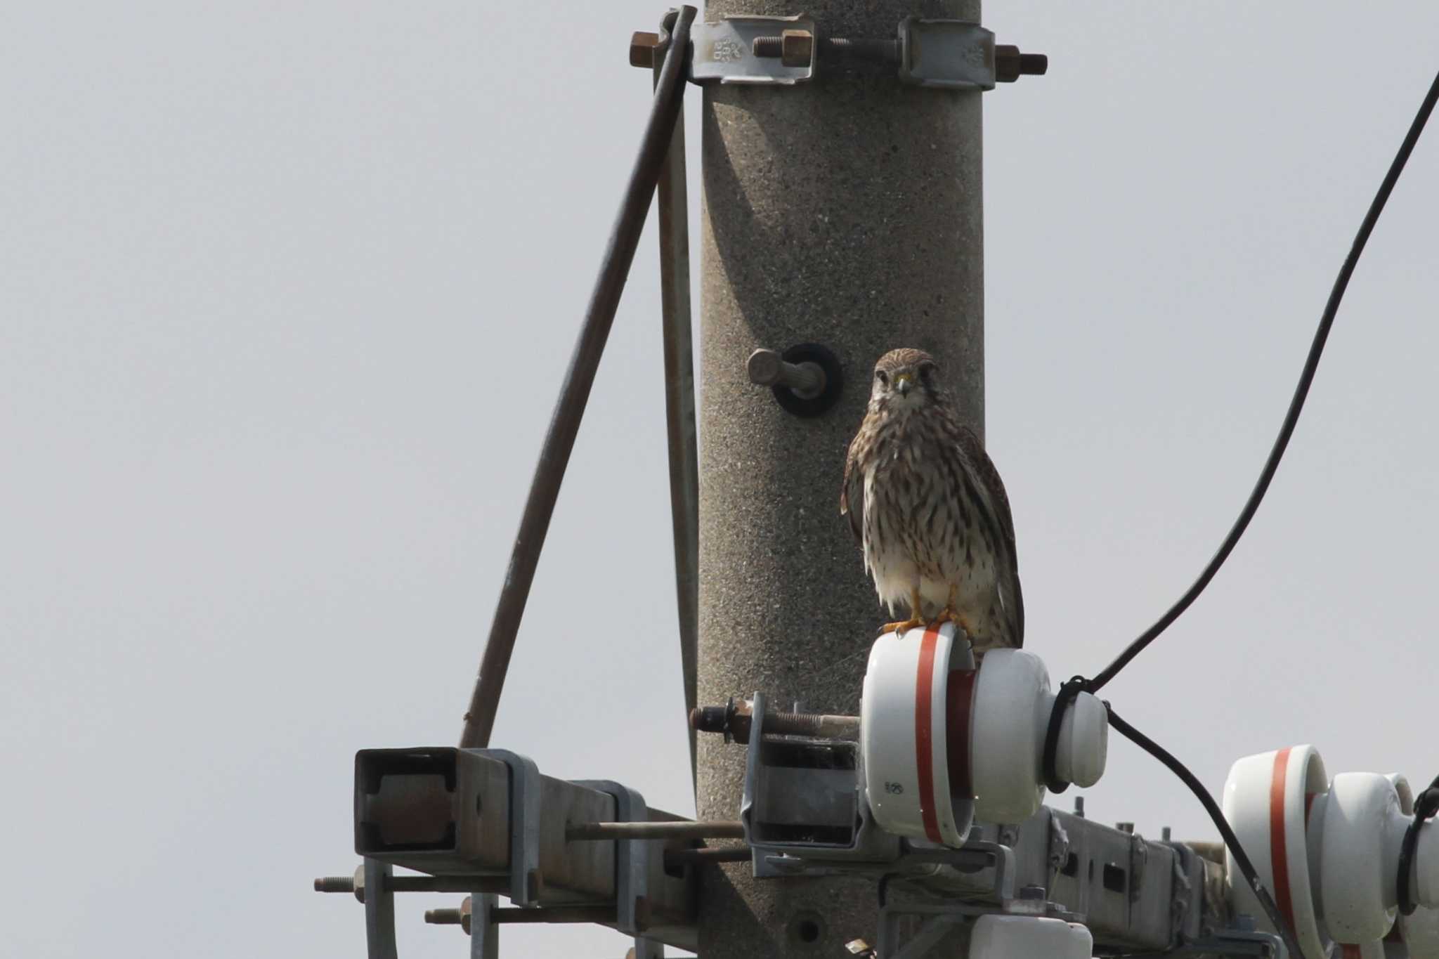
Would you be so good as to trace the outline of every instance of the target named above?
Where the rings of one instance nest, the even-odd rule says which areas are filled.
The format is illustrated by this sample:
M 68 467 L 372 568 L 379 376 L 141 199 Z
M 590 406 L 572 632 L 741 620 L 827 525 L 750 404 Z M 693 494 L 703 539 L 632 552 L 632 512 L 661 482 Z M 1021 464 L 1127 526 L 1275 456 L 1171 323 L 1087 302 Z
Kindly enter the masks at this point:
M 999 472 L 940 387 L 934 357 L 892 349 L 875 365 L 869 411 L 849 444 L 839 512 L 865 549 L 889 614 L 881 630 L 953 621 L 976 653 L 1025 643 L 1014 520 Z

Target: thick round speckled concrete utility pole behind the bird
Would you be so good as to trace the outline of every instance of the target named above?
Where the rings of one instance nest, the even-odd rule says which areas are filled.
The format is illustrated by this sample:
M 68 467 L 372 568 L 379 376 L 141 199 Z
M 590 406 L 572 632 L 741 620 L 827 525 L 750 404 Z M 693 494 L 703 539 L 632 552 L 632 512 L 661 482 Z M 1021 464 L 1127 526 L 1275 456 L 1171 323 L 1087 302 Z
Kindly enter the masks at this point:
M 967 0 L 711 0 L 807 13 L 822 36 L 892 39 L 905 16 L 979 22 Z M 839 516 L 845 450 L 875 361 L 920 347 L 983 436 L 980 93 L 905 86 L 895 68 L 829 68 L 797 86 L 704 95 L 698 699 L 764 690 L 855 713 L 884 615 Z M 829 347 L 839 404 L 814 418 L 754 385 L 757 348 Z M 698 815 L 734 820 L 744 752 L 701 738 Z M 875 930 L 872 880 L 702 876 L 705 959 L 840 956 Z

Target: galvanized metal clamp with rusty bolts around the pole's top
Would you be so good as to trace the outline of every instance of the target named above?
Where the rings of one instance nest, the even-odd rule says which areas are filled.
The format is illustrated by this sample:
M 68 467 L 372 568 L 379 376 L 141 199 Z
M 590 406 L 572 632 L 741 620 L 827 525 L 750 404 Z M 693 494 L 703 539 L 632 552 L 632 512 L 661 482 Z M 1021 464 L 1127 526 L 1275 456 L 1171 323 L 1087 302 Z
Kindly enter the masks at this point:
M 691 35 L 692 83 L 793 86 L 814 79 L 822 62 L 894 66 L 899 81 L 940 89 L 990 91 L 1020 76 L 1043 75 L 1049 58 L 994 43 L 994 33 L 968 20 L 905 17 L 894 37 L 825 36 L 813 17 L 730 16 L 695 23 Z M 630 39 L 630 65 L 650 66 L 652 33 Z

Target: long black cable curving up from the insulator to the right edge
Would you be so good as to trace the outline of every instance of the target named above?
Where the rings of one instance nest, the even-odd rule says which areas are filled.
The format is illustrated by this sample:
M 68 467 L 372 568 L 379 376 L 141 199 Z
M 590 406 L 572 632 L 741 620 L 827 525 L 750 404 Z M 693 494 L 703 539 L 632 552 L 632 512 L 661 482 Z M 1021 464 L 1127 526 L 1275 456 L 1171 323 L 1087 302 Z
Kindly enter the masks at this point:
M 1130 643 L 1130 646 L 1112 661 L 1102 673 L 1089 680 L 1085 689 L 1091 693 L 1098 693 L 1104 686 L 1114 679 L 1120 670 L 1128 666 L 1130 660 L 1144 651 L 1150 643 L 1153 643 L 1164 630 L 1170 627 L 1180 617 L 1180 614 L 1187 610 L 1199 594 L 1204 591 L 1209 581 L 1215 578 L 1219 568 L 1233 552 L 1235 543 L 1239 538 L 1245 535 L 1245 529 L 1249 526 L 1249 520 L 1253 519 L 1255 510 L 1259 509 L 1261 500 L 1263 500 L 1265 492 L 1269 489 L 1269 482 L 1274 479 L 1275 470 L 1279 469 L 1279 460 L 1284 457 L 1285 447 L 1289 446 L 1289 437 L 1294 436 L 1294 427 L 1299 421 L 1299 411 L 1304 410 L 1304 400 L 1309 395 L 1309 384 L 1314 382 L 1314 372 L 1320 367 L 1320 354 L 1324 352 L 1324 342 L 1330 338 L 1330 326 L 1334 325 L 1334 315 L 1340 309 L 1340 300 L 1344 298 L 1344 290 L 1348 288 L 1350 276 L 1354 275 L 1354 267 L 1358 265 L 1360 253 L 1364 252 L 1364 244 L 1368 243 L 1368 234 L 1374 231 L 1374 224 L 1379 221 L 1379 214 L 1383 213 L 1384 204 L 1389 201 L 1389 194 L 1394 190 L 1394 184 L 1399 181 L 1399 174 L 1403 173 L 1404 164 L 1409 161 L 1409 154 L 1413 152 L 1415 144 L 1419 142 L 1419 134 L 1423 132 L 1425 124 L 1429 122 L 1429 114 L 1433 112 L 1435 101 L 1439 99 L 1439 76 L 1435 76 L 1435 82 L 1429 86 L 1429 93 L 1425 96 L 1423 104 L 1419 106 L 1419 112 L 1415 115 L 1415 122 L 1409 125 L 1409 134 L 1404 135 L 1404 142 L 1399 145 L 1399 152 L 1394 155 L 1394 161 L 1389 165 L 1389 173 L 1384 174 L 1384 181 L 1379 184 L 1379 193 L 1374 194 L 1374 201 L 1368 204 L 1368 213 L 1364 214 L 1364 221 L 1358 227 L 1358 233 L 1354 236 L 1354 244 L 1350 247 L 1348 256 L 1344 259 L 1344 266 L 1340 267 L 1338 279 L 1334 280 L 1334 289 L 1330 292 L 1330 302 L 1324 306 L 1324 315 L 1320 318 L 1320 328 L 1314 332 L 1314 342 L 1309 345 L 1309 355 L 1304 361 L 1304 372 L 1299 374 L 1299 384 L 1294 388 L 1294 398 L 1289 400 L 1289 411 L 1284 416 L 1284 424 L 1279 427 L 1279 436 L 1274 441 L 1274 449 L 1269 450 L 1269 459 L 1265 460 L 1263 470 L 1259 473 L 1259 482 L 1255 483 L 1253 490 L 1249 493 L 1249 499 L 1245 502 L 1245 508 L 1239 512 L 1239 519 L 1229 529 L 1229 535 L 1225 541 L 1219 543 L 1219 549 L 1210 558 L 1204 571 L 1199 574 L 1199 578 L 1184 591 L 1174 605 L 1161 615 L 1154 625 L 1147 628 L 1137 640 Z

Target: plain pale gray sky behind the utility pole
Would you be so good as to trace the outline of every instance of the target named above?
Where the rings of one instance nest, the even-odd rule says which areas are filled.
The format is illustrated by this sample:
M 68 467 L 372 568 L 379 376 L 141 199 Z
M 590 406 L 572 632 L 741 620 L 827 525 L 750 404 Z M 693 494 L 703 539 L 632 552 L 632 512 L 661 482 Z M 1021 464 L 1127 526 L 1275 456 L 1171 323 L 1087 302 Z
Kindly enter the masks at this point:
M 361 955 L 361 910 L 309 880 L 354 864 L 355 749 L 459 733 L 648 108 L 626 40 L 662 12 L 6 6 L 6 952 Z M 986 24 L 1052 63 L 986 95 L 986 335 L 1026 647 L 1066 677 L 1236 515 L 1439 68 L 1439 4 L 991 3 Z M 1215 791 L 1298 742 L 1331 774 L 1439 772 L 1436 206 L 1430 129 L 1269 500 L 1107 690 Z M 658 316 L 648 234 L 494 740 L 692 814 Z M 1118 738 L 1089 811 L 1212 837 Z M 401 900 L 401 952 L 463 955 L 420 923 L 446 899 Z

